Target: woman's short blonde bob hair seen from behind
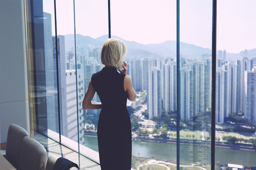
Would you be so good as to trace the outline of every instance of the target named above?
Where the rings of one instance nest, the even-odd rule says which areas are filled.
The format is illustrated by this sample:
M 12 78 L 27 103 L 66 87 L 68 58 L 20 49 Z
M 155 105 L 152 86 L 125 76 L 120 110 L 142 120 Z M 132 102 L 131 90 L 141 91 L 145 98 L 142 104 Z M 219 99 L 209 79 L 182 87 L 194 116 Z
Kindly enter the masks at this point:
M 117 68 L 122 68 L 122 59 L 127 54 L 127 47 L 122 40 L 110 38 L 108 39 L 101 52 L 101 62 L 104 65 Z

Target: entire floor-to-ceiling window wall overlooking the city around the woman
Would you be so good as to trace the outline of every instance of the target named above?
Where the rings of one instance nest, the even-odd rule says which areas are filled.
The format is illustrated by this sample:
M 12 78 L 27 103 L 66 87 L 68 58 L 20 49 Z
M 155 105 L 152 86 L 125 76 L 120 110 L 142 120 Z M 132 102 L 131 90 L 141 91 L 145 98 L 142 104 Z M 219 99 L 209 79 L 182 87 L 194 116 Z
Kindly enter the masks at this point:
M 216 61 L 212 61 L 212 44 L 216 43 L 212 40 L 212 1 L 111 0 L 111 30 L 106 0 L 55 3 L 56 11 L 53 1 L 26 1 L 33 130 L 51 138 L 49 131 L 59 133 L 54 140 L 67 147 L 73 147 L 65 143 L 69 138 L 98 151 L 100 110 L 82 110 L 81 103 L 92 74 L 104 67 L 101 48 L 111 36 L 127 44 L 124 60 L 137 91 L 137 99 L 127 106 L 132 115 L 133 169 L 157 169 L 160 164 L 175 169 L 171 164 L 177 164 L 180 169 L 193 165 L 186 168 L 208 170 L 213 163 L 212 149 L 216 169 L 223 169 L 224 164 L 254 166 L 254 1 L 218 2 Z M 212 73 L 214 64 L 216 72 Z M 216 125 L 212 127 L 215 82 Z M 97 94 L 93 101 L 100 102 Z M 78 124 L 79 129 L 73 130 Z M 79 152 L 78 145 L 73 150 Z M 162 162 L 144 164 L 153 159 Z

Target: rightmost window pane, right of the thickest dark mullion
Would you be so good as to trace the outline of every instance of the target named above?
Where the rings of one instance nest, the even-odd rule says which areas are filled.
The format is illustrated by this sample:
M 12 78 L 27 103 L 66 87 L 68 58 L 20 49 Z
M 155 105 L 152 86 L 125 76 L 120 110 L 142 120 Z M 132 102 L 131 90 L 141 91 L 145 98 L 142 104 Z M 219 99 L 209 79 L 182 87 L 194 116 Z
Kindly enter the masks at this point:
M 256 11 L 253 6 L 256 6 L 253 0 L 217 3 L 216 169 L 255 167 Z

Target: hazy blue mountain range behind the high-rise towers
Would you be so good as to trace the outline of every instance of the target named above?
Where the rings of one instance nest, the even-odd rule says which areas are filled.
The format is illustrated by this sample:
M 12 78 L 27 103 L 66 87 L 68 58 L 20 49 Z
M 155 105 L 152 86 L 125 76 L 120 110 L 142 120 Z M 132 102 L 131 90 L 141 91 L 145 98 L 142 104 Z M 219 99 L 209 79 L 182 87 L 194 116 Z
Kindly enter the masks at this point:
M 125 42 L 128 48 L 127 57 L 176 57 L 176 41 L 166 41 L 159 44 L 141 44 L 135 41 L 127 41 L 117 36 L 112 38 L 118 38 Z M 104 42 L 108 40 L 108 35 L 103 35 L 96 39 L 76 34 L 77 47 L 91 47 L 101 48 Z M 74 49 L 74 34 L 65 35 L 65 48 Z M 210 48 L 202 48 L 193 44 L 180 42 L 180 57 L 193 59 L 198 56 L 211 56 L 212 50 Z M 243 57 L 244 51 L 240 53 L 227 53 L 227 60 L 235 60 Z M 252 59 L 256 57 L 256 48 L 247 50 L 247 57 Z

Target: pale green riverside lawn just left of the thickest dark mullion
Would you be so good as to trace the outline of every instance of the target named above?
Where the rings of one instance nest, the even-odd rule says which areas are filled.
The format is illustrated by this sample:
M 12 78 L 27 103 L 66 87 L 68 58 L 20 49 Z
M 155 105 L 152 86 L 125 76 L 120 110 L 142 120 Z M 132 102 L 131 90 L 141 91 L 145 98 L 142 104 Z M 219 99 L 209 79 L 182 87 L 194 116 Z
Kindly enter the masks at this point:
M 170 131 L 172 135 L 176 134 L 176 131 Z M 186 137 L 186 135 L 191 135 L 191 137 Z M 192 136 L 195 135 L 195 138 Z M 195 139 L 195 140 L 202 140 L 201 138 L 202 132 L 199 130 L 180 130 L 180 139 Z M 169 136 L 169 138 L 176 138 L 176 136 Z

